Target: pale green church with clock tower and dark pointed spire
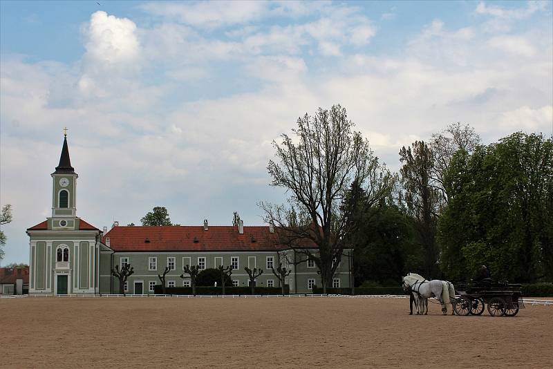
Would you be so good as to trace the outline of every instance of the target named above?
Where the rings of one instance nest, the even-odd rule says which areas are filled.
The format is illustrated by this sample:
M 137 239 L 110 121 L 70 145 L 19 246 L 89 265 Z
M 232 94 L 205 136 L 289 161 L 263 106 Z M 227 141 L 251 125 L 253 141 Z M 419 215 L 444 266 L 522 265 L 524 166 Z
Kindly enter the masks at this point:
M 52 216 L 27 229 L 29 294 L 98 293 L 102 232 L 77 217 L 77 173 L 67 134 L 52 177 Z

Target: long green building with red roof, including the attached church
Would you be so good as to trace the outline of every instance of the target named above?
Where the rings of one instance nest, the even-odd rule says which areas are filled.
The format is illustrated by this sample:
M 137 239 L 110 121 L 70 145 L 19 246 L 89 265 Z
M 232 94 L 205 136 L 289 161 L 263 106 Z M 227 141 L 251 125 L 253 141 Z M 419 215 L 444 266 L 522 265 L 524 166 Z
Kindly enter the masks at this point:
M 321 285 L 315 263 L 301 261 L 296 250 L 278 245 L 272 226 L 138 227 L 120 226 L 100 230 L 77 216 L 77 178 L 71 166 L 67 138 L 59 164 L 51 174 L 52 216 L 27 229 L 30 237 L 29 294 L 118 294 L 118 279 L 111 276 L 115 265 L 130 263 L 134 274 L 125 284 L 129 294 L 153 294 L 160 284 L 158 274 L 169 267 L 167 286 L 187 286 L 182 279 L 185 265 L 200 269 L 232 266 L 232 283 L 247 286 L 244 267 L 262 268 L 256 285 L 279 287 L 271 267 L 282 263 L 292 269 L 285 283 L 290 293 L 310 293 Z M 315 248 L 307 244 L 305 248 Z M 345 250 L 332 287 L 350 287 L 350 253 Z M 303 257 L 304 258 L 304 257 Z

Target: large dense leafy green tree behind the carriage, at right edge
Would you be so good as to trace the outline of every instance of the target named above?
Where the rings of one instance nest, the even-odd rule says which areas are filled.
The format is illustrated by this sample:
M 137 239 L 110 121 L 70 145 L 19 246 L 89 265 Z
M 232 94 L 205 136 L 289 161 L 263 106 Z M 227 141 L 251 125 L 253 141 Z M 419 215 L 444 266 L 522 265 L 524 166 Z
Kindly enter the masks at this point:
M 451 198 L 439 238 L 448 274 L 485 264 L 509 281 L 553 278 L 553 139 L 517 132 L 460 151 L 444 184 Z

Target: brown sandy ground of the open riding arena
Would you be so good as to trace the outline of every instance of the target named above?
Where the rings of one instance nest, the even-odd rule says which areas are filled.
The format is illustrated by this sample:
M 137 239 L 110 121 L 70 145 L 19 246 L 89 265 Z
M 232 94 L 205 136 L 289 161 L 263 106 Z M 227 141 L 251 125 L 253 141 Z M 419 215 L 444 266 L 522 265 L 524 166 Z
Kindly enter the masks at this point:
M 553 308 L 405 299 L 0 299 L 2 368 L 552 368 Z

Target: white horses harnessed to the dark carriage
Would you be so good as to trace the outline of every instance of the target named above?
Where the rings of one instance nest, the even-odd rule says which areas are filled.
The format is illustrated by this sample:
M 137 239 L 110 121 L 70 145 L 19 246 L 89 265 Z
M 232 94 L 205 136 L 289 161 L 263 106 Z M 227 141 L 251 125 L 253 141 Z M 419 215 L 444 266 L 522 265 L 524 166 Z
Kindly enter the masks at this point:
M 447 281 L 434 279 L 427 281 L 419 274 L 409 273 L 403 277 L 403 287 L 405 290 L 410 289 L 418 299 L 417 314 L 428 314 L 428 299 L 435 297 L 442 305 L 442 314 L 447 314 L 447 303 L 451 303 L 450 298 L 455 297 L 455 288 L 453 284 Z M 451 306 L 451 314 L 453 314 L 453 306 Z

